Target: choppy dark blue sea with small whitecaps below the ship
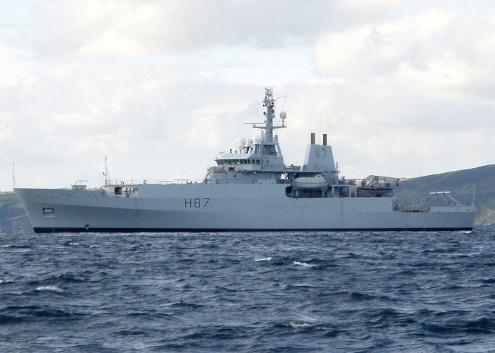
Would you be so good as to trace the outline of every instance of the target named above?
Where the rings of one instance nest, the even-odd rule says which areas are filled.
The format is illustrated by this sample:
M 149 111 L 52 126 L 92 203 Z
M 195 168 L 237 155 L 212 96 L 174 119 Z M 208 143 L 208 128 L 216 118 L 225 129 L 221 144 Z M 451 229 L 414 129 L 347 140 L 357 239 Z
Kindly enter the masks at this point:
M 1 352 L 495 352 L 495 227 L 0 233 Z

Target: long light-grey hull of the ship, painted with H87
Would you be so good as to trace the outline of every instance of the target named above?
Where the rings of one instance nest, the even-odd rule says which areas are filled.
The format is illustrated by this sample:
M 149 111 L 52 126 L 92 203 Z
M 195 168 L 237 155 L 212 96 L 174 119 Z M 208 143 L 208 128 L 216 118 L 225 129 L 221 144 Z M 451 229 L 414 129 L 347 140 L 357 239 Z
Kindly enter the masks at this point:
M 474 207 L 400 212 L 395 198 L 289 198 L 285 188 L 146 184 L 132 197 L 100 190 L 15 191 L 35 232 L 470 230 L 474 222 Z

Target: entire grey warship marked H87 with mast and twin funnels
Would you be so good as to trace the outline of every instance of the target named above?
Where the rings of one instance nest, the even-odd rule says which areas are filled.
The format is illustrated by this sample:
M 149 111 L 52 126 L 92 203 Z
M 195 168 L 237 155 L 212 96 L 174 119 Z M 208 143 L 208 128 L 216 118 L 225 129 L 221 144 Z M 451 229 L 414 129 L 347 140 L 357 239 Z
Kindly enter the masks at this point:
M 474 205 L 448 191 L 439 202 L 401 205 L 393 196 L 399 179 L 339 177 L 327 135 L 310 144 L 302 166 L 284 164 L 275 131 L 272 88 L 265 89 L 260 130 L 221 152 L 202 181 L 105 181 L 89 189 L 76 181 L 64 189 L 14 188 L 34 232 L 226 232 L 470 230 Z M 105 163 L 106 164 L 106 163 Z M 423 200 L 419 198 L 418 200 Z

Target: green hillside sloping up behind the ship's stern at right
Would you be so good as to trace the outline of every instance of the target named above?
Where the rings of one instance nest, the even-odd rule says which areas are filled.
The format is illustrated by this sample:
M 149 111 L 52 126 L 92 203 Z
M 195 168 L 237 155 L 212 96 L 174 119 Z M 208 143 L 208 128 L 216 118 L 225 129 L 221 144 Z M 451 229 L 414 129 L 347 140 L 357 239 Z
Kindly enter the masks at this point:
M 476 224 L 495 224 L 495 164 L 455 172 L 406 179 L 395 188 L 395 196 L 406 204 L 431 191 L 450 191 L 460 203 L 471 203 L 475 184 Z

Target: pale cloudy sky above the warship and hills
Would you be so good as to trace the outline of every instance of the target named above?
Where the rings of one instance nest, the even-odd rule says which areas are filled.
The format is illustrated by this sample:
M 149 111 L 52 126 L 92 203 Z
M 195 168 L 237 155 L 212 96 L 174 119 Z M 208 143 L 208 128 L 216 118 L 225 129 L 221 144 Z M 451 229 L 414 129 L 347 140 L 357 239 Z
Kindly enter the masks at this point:
M 203 179 L 263 121 L 341 176 L 495 163 L 495 1 L 0 2 L 0 190 Z

